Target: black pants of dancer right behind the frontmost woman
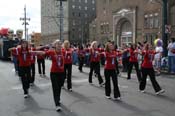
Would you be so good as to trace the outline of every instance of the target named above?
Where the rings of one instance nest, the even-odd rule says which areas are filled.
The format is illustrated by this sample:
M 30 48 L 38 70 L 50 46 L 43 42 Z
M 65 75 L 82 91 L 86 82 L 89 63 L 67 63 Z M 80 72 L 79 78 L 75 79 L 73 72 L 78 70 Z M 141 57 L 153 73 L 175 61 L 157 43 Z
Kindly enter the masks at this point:
M 72 89 L 72 63 L 64 65 L 64 75 L 67 78 L 67 89 Z

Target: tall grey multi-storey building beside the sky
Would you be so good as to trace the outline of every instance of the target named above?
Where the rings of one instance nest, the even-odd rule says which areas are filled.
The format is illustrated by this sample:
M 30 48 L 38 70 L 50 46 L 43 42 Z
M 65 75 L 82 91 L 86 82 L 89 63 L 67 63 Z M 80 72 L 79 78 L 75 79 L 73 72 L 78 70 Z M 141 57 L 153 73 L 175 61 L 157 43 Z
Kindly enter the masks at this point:
M 41 34 L 44 44 L 59 39 L 60 2 L 41 0 Z M 96 17 L 96 0 L 64 0 L 64 39 L 72 43 L 89 41 L 89 23 Z

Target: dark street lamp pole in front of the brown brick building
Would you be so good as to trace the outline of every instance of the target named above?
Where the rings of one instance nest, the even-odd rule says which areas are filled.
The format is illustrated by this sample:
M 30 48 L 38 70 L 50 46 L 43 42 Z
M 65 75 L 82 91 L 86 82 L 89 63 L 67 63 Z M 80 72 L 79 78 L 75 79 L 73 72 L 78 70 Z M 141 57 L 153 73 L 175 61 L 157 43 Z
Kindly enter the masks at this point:
M 168 50 L 168 33 L 165 31 L 165 27 L 167 26 L 168 23 L 168 10 L 167 10 L 167 5 L 168 5 L 168 0 L 154 0 L 155 2 L 161 4 L 162 6 L 162 40 L 163 40 L 163 56 L 167 56 Z M 150 2 L 153 2 L 153 0 L 150 0 Z

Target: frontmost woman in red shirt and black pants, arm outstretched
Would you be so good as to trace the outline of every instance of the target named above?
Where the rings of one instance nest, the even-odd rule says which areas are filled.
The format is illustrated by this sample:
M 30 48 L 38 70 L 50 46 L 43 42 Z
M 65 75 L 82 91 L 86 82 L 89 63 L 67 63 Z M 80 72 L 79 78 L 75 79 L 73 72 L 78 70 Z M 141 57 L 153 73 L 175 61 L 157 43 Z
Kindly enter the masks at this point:
M 56 40 L 53 43 L 53 46 L 55 49 L 51 49 L 48 51 L 38 51 L 38 53 L 40 53 L 40 55 L 49 56 L 52 60 L 52 65 L 50 69 L 50 78 L 52 83 L 52 90 L 56 105 L 56 111 L 60 111 L 61 87 L 63 86 L 65 79 L 64 55 L 62 52 L 62 43 L 60 40 Z

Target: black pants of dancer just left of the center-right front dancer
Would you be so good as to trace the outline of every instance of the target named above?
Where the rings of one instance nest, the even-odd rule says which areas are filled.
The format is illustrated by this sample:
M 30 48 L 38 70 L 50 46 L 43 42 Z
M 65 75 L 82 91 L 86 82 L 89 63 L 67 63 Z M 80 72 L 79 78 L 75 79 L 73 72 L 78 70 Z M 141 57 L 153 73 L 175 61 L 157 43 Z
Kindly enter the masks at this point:
M 99 84 L 103 83 L 103 79 L 102 79 L 102 77 L 100 75 L 100 62 L 91 62 L 90 63 L 89 83 L 92 83 L 92 74 L 93 74 L 93 71 L 98 76 Z

